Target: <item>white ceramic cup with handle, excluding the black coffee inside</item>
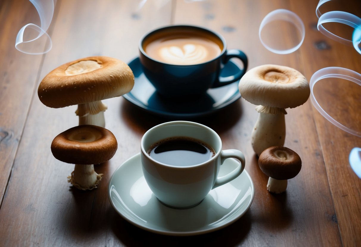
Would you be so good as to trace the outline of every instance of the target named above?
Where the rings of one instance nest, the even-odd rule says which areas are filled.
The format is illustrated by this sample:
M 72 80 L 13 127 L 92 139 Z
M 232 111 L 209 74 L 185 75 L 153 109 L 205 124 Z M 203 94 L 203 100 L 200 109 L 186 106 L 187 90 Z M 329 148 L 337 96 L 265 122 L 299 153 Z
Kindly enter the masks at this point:
M 208 161 L 191 166 L 174 166 L 156 161 L 148 154 L 150 147 L 160 140 L 186 136 L 208 144 L 215 155 Z M 166 206 L 190 208 L 198 205 L 210 190 L 237 178 L 244 170 L 245 159 L 236 149 L 222 150 L 219 135 L 209 127 L 195 122 L 173 121 L 149 129 L 141 141 L 141 160 L 144 178 L 155 196 Z M 236 158 L 239 166 L 229 174 L 218 177 L 227 158 Z

